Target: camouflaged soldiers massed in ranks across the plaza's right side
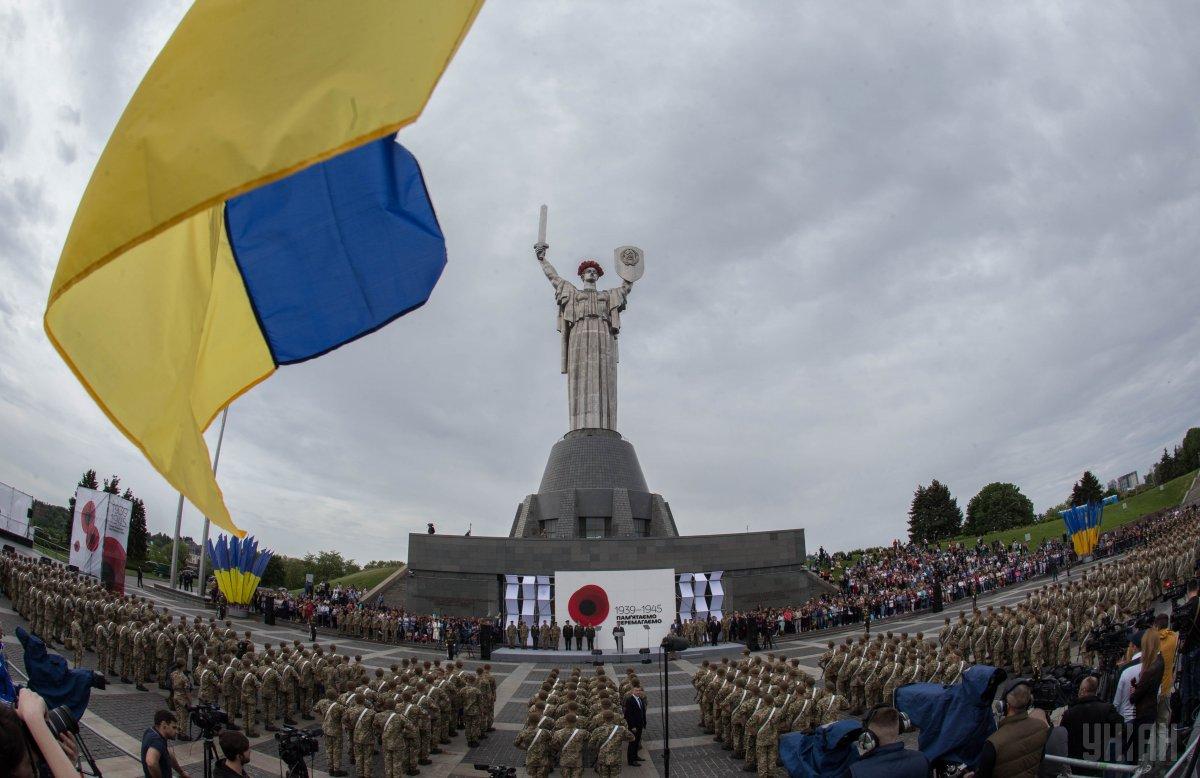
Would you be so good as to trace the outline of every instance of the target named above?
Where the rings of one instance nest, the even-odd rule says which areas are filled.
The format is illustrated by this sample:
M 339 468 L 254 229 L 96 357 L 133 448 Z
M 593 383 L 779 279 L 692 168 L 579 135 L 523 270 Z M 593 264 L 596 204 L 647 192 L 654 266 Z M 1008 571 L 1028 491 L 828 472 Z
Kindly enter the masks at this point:
M 1148 608 L 1164 584 L 1195 574 L 1200 525 L 1192 511 L 1156 523 L 1145 545 L 1098 564 L 1079 579 L 1051 582 L 1015 606 L 976 609 L 970 618 L 946 618 L 936 640 L 907 633 L 846 638 L 828 642 L 817 664 L 817 682 L 798 660 L 767 654 L 732 662 L 704 662 L 692 678 L 701 726 L 745 759 L 743 767 L 774 774 L 778 737 L 890 704 L 906 683 L 953 684 L 972 664 L 990 664 L 1018 675 L 1094 657 L 1082 647 L 1093 627 L 1120 623 Z M 1079 654 L 1074 653 L 1075 647 Z

